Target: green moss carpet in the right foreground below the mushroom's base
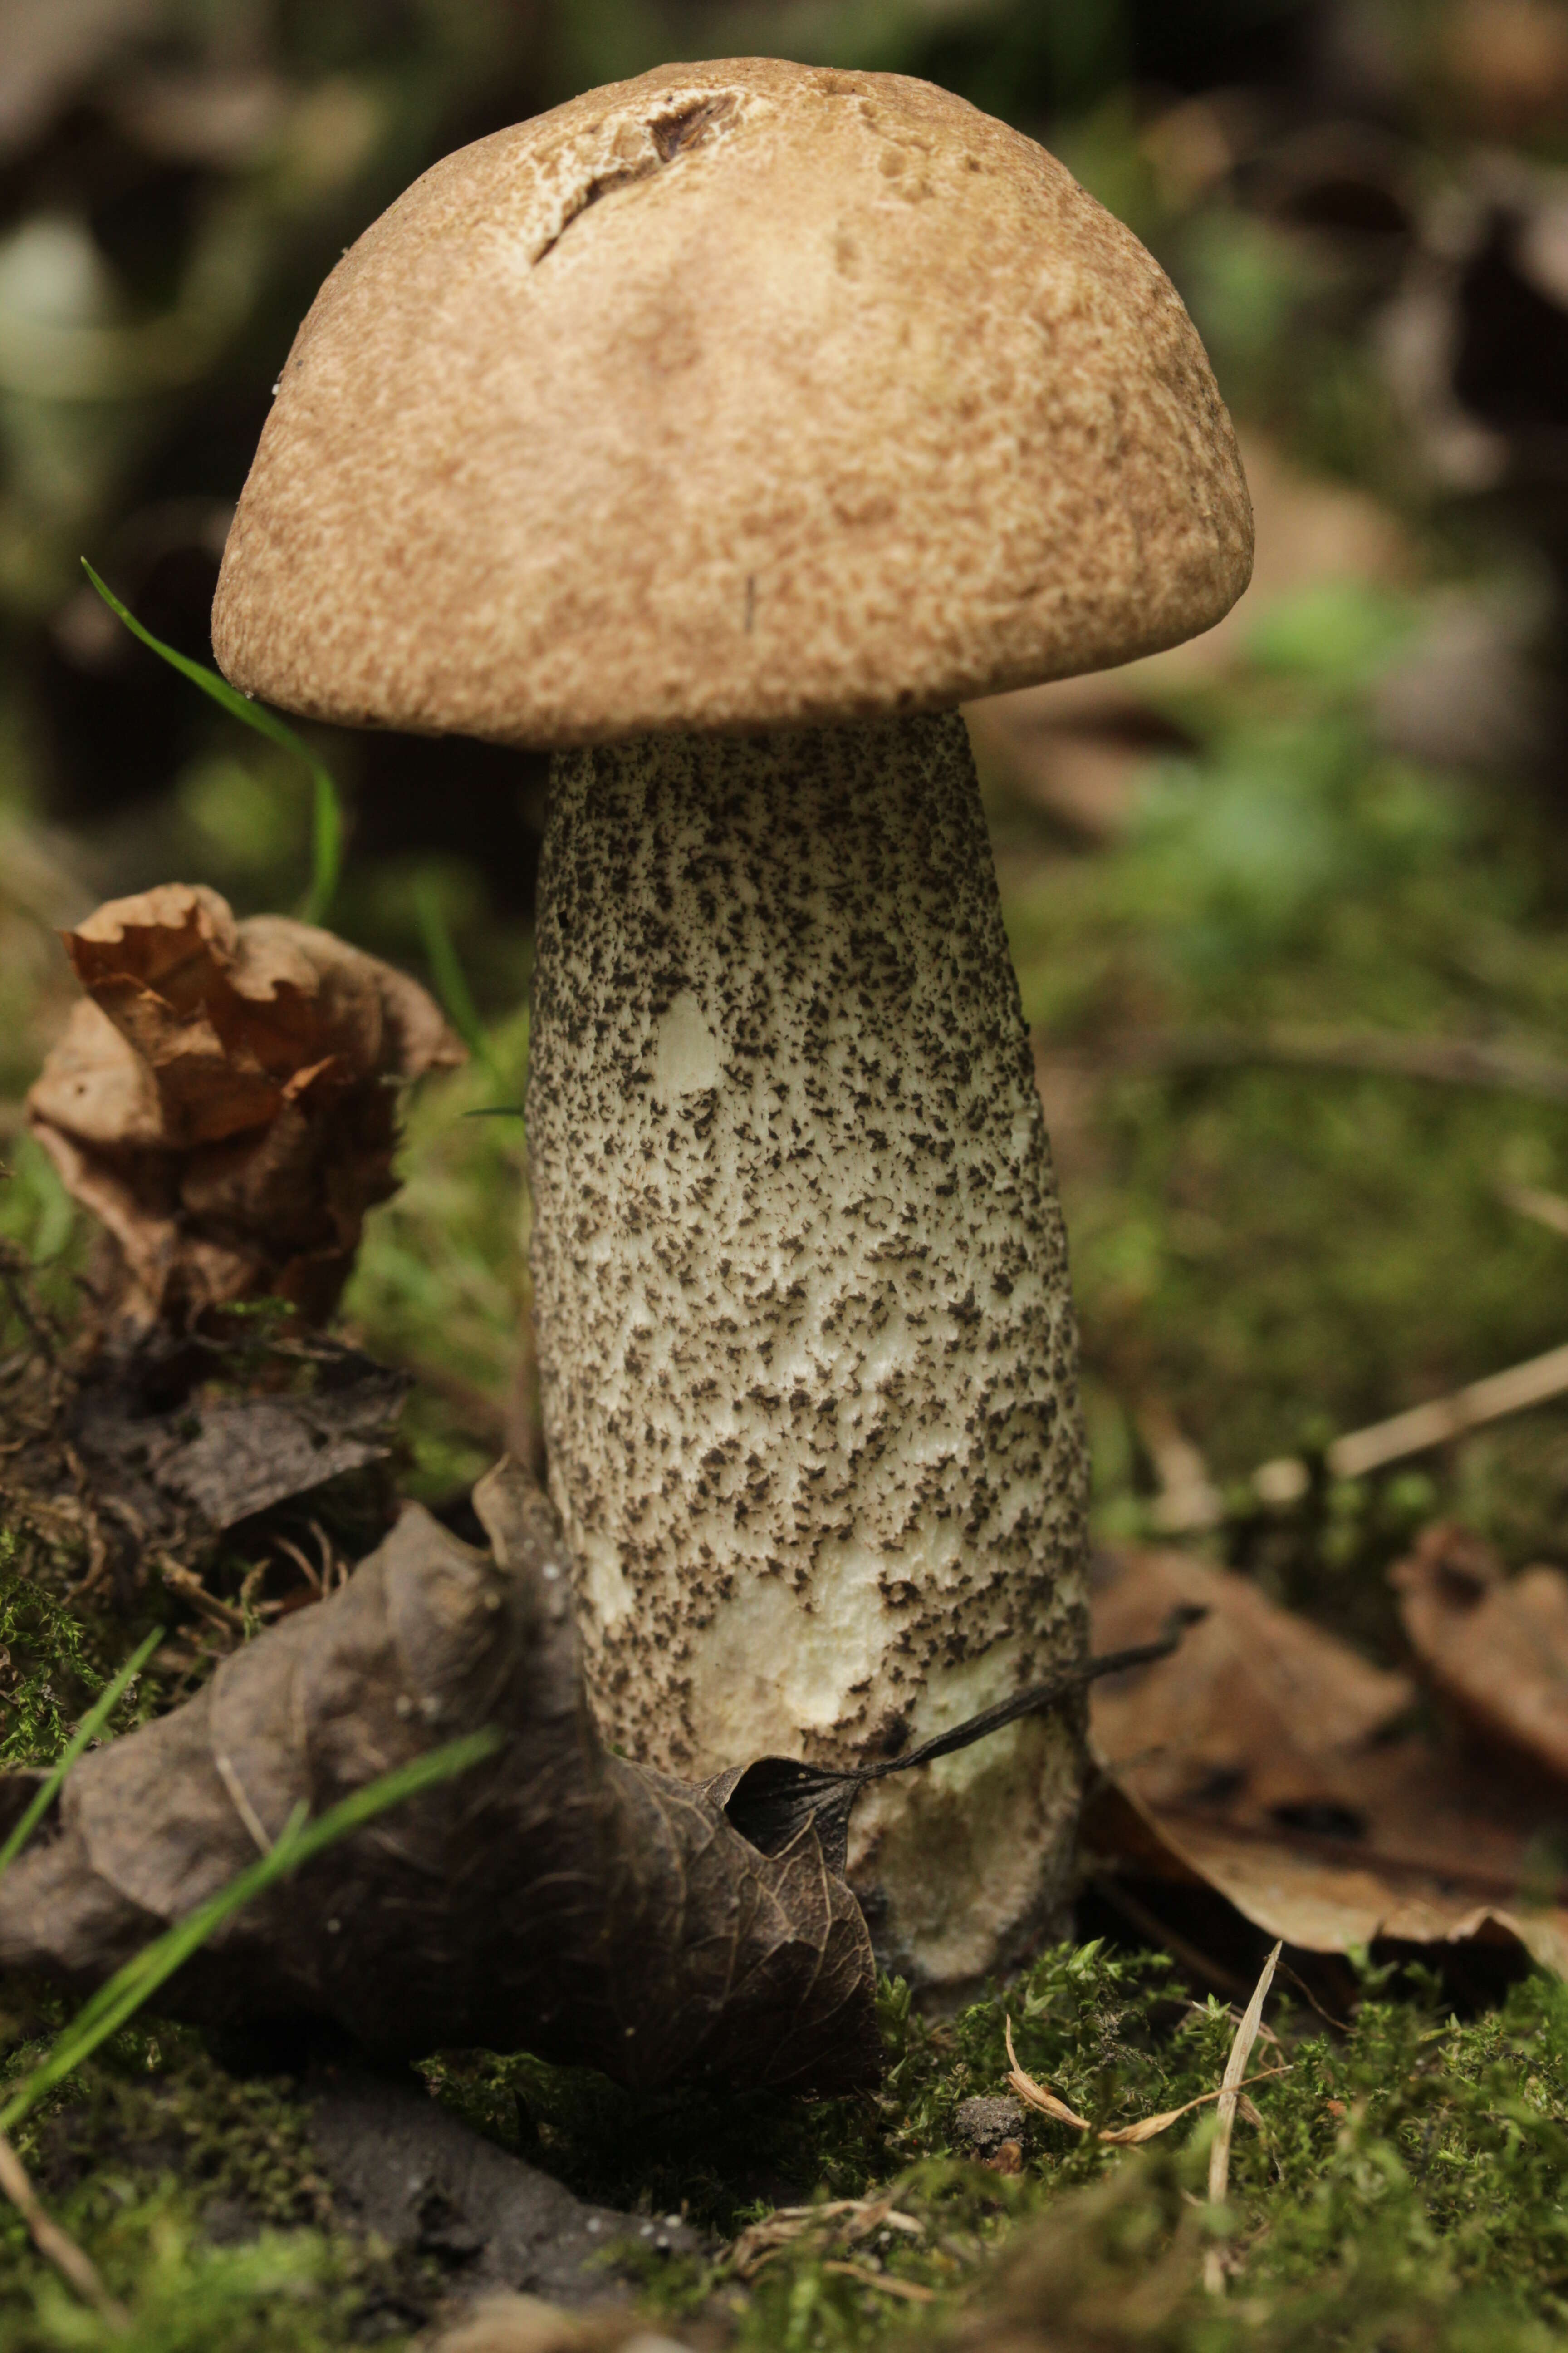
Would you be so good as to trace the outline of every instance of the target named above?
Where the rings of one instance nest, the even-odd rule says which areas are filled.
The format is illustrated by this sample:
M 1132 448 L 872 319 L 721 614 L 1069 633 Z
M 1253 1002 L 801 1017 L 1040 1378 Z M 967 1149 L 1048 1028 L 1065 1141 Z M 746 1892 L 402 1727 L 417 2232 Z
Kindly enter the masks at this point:
M 1387 1972 L 1363 1969 L 1345 2035 L 1281 2005 L 1281 2047 L 1260 2045 L 1255 2071 L 1288 2073 L 1255 2085 L 1262 2129 L 1237 2127 L 1229 2202 L 1211 2212 L 1213 2111 L 1135 2155 L 1030 2115 L 1020 2177 L 976 2165 L 957 2129 L 966 2097 L 1004 2087 L 1009 2017 L 1023 2066 L 1095 2125 L 1213 2092 L 1234 2019 L 1187 2000 L 1164 1958 L 1060 1946 L 954 2019 L 917 2017 L 898 1986 L 882 2017 L 889 2075 L 865 2101 L 637 2099 L 520 2059 L 433 2073 L 470 2120 L 595 2198 L 736 2233 L 773 2205 L 886 2195 L 922 2226 L 860 2238 L 856 2214 L 823 2214 L 752 2278 L 726 2257 L 651 2278 L 668 2313 L 719 2311 L 748 2348 L 903 2339 L 912 2304 L 867 2271 L 929 2292 L 922 2325 L 976 2297 L 1037 2329 L 1077 2304 L 1107 2346 L 1192 2353 L 1460 2348 L 1486 2329 L 1533 2346 L 1568 2327 L 1568 1991 L 1554 1979 L 1458 2021 L 1434 1981 L 1394 1995 Z M 1222 2306 L 1201 2287 L 1211 2242 L 1232 2266 Z

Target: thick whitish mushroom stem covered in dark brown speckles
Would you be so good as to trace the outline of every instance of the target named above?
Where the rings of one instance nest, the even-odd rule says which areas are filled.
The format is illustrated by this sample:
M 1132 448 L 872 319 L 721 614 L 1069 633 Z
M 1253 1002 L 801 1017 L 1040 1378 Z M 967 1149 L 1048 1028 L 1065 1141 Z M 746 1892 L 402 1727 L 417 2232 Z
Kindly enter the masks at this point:
M 1077 1657 L 1067 1252 L 957 715 L 557 755 L 529 1082 L 592 1701 L 684 1774 L 891 1753 Z M 856 1809 L 882 1955 L 1060 1913 L 1079 1729 Z

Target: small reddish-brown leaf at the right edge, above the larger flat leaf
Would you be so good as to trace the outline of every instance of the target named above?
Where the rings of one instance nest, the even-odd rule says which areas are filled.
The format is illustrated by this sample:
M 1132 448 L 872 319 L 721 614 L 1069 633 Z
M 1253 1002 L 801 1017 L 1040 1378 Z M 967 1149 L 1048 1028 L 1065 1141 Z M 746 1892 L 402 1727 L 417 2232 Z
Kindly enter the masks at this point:
M 1568 1577 L 1505 1577 L 1469 1529 L 1427 1527 L 1392 1572 L 1410 1649 L 1483 1739 L 1568 1781 Z

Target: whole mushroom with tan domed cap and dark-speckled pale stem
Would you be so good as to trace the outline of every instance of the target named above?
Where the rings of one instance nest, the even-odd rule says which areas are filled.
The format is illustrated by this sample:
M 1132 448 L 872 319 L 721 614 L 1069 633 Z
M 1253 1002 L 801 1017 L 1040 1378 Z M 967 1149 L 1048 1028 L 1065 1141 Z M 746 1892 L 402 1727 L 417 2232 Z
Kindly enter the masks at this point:
M 313 718 L 557 753 L 538 1362 L 628 1753 L 896 1753 L 1079 1654 L 1067 1254 L 957 704 L 1248 567 L 1157 264 L 898 75 L 595 89 L 425 172 L 301 327 L 214 645 Z M 1079 1765 L 1034 1718 L 884 1784 L 891 1965 L 1060 1920 Z

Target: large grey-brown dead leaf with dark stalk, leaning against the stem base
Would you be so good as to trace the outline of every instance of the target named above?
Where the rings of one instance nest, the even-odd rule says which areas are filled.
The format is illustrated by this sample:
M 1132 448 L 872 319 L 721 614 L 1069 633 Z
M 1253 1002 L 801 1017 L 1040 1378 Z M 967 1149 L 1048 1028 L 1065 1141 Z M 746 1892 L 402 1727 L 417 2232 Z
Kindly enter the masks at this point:
M 599 1744 L 541 1489 L 501 1464 L 473 1504 L 489 1551 L 404 1506 L 346 1586 L 85 1755 L 0 1882 L 0 1969 L 101 1984 L 294 1807 L 320 1814 L 433 1741 L 494 1725 L 503 1746 L 461 1784 L 235 1913 L 169 1981 L 167 2009 L 214 2026 L 327 2019 L 381 2057 L 522 2047 L 639 2087 L 875 2082 L 872 1946 L 844 1880 L 858 1788 L 1128 1657 L 858 1772 L 764 1758 L 691 1786 Z M 35 1786 L 0 1781 L 0 1824 Z

